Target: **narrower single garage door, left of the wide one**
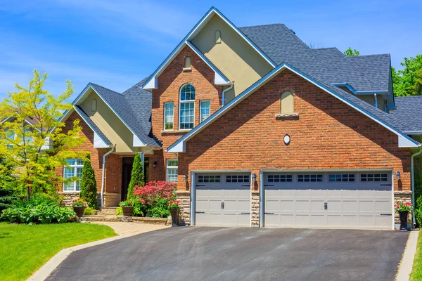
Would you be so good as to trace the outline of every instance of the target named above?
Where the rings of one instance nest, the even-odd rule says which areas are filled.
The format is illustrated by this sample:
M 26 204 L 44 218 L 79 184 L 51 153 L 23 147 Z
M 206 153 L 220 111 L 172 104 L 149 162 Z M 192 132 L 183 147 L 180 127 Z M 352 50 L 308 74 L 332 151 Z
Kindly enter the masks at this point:
M 196 174 L 196 226 L 250 226 L 250 174 Z

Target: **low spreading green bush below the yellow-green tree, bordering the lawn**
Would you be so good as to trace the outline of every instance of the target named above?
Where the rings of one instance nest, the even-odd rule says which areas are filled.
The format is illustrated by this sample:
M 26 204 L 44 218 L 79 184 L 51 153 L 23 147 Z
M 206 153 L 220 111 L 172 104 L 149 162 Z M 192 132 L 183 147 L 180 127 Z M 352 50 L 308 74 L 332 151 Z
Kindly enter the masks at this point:
M 1 218 L 10 223 L 66 223 L 75 215 L 69 207 L 60 207 L 44 198 L 33 198 L 14 202 L 12 207 L 2 212 Z

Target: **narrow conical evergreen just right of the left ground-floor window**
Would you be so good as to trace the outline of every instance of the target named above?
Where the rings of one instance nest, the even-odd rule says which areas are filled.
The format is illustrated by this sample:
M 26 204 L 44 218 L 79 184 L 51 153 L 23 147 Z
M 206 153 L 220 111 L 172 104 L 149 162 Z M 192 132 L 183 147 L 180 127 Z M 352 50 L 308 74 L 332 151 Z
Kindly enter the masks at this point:
M 79 197 L 87 201 L 87 204 L 92 209 L 98 209 L 97 188 L 94 169 L 91 165 L 91 156 L 89 153 L 84 159 L 84 166 L 82 167 L 81 192 Z

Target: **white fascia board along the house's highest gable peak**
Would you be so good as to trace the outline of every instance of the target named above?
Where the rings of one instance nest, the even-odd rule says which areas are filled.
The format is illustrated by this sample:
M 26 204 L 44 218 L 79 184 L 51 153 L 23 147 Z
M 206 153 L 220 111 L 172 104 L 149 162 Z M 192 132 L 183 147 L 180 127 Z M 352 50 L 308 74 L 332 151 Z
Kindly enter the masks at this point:
M 167 65 L 173 60 L 174 56 L 179 54 L 179 52 L 181 51 L 181 48 L 186 43 L 186 41 L 190 41 L 191 39 L 193 39 L 193 37 L 195 37 L 200 32 L 200 30 L 202 30 L 203 27 L 205 27 L 205 25 L 207 25 L 207 22 L 209 22 L 214 15 L 218 15 L 220 18 L 222 18 L 222 20 L 224 20 L 224 22 L 226 22 L 227 25 L 233 28 L 235 32 L 237 32 L 250 46 L 252 46 L 252 48 L 254 48 L 255 51 L 257 51 L 257 53 L 259 53 L 262 56 L 262 58 L 264 58 L 264 60 L 267 61 L 267 63 L 269 63 L 273 68 L 276 67 L 276 64 L 263 51 L 261 51 L 260 48 L 258 48 L 248 37 L 246 37 L 245 34 L 243 34 L 243 32 L 241 32 L 241 30 L 239 30 L 238 27 L 236 27 L 236 25 L 233 24 L 233 22 L 231 22 L 228 18 L 226 18 L 220 11 L 217 10 L 217 8 L 212 7 L 210 8 L 209 11 L 207 11 L 207 13 L 205 13 L 203 18 L 201 18 L 199 22 L 196 23 L 196 25 L 186 35 L 186 37 L 184 37 L 184 39 L 181 40 L 181 42 L 176 46 L 176 48 L 174 48 L 172 53 L 170 53 L 170 55 L 167 56 L 167 58 L 161 63 L 161 65 L 157 68 L 157 70 L 155 70 L 155 72 L 151 75 L 151 77 L 146 81 L 142 89 L 144 90 L 157 89 L 156 88 L 157 81 L 155 79 L 157 79 L 157 77 L 160 76 L 160 74 L 165 69 L 165 67 L 167 67 Z M 152 80 L 155 80 L 155 81 L 151 83 Z

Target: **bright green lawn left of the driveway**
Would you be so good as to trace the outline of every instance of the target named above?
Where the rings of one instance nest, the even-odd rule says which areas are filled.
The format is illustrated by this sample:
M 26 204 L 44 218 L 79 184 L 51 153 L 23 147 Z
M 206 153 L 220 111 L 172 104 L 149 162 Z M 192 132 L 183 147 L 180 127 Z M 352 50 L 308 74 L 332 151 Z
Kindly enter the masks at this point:
M 26 280 L 61 249 L 115 235 L 112 228 L 91 223 L 0 223 L 0 280 Z

